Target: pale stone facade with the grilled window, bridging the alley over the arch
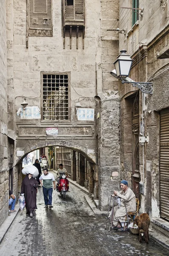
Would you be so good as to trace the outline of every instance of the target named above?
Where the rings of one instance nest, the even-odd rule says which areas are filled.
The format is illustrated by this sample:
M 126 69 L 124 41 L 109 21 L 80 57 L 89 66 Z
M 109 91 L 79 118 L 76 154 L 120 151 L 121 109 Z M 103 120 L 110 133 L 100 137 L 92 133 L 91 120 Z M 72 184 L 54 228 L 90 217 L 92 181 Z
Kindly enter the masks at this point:
M 112 180 L 118 184 L 120 179 L 118 82 L 109 74 L 118 53 L 118 35 L 111 31 L 118 1 L 5 2 L 0 9 L 1 121 L 6 127 L 1 129 L 0 182 L 6 189 L 0 214 L 8 215 L 10 186 L 15 195 L 20 192 L 23 157 L 53 145 L 85 157 L 91 170 L 89 190 L 99 208 L 107 209 Z M 78 118 L 80 109 L 94 109 L 94 119 Z M 57 128 L 58 135 L 48 135 L 47 128 Z

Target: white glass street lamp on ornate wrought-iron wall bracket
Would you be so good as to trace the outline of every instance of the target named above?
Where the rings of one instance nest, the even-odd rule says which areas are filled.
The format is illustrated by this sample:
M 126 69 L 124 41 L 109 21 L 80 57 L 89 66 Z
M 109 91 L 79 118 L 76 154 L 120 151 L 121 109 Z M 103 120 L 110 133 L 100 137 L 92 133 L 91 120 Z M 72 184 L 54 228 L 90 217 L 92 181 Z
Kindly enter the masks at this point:
M 143 93 L 152 94 L 152 83 L 149 82 L 135 82 L 130 79 L 129 73 L 132 67 L 133 60 L 130 55 L 126 54 L 126 50 L 121 50 L 121 54 L 117 57 L 117 60 L 113 63 L 115 64 L 115 70 L 110 71 L 110 74 L 115 78 L 121 80 L 122 84 L 132 84 L 133 87 L 137 87 Z

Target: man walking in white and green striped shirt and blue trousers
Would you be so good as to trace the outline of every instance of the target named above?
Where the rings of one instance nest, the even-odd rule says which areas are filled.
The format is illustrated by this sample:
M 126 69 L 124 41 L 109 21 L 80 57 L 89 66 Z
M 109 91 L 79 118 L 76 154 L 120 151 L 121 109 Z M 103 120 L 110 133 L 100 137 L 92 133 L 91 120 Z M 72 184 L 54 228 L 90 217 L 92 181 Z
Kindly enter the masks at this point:
M 53 193 L 53 184 L 54 189 L 56 189 L 55 179 L 52 173 L 49 173 L 48 169 L 43 170 L 43 174 L 39 178 L 40 184 L 43 187 L 43 197 L 45 201 L 45 208 L 52 208 L 52 193 Z M 43 183 L 42 183 L 43 180 Z M 52 184 L 53 183 L 53 184 Z

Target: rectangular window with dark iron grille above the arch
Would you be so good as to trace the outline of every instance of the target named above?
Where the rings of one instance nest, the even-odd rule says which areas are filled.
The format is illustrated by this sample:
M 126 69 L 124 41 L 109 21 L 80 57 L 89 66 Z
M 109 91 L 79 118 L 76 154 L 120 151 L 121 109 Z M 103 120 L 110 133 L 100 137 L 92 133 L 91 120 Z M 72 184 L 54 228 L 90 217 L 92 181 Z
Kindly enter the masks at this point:
M 68 75 L 43 74 L 43 120 L 68 120 Z

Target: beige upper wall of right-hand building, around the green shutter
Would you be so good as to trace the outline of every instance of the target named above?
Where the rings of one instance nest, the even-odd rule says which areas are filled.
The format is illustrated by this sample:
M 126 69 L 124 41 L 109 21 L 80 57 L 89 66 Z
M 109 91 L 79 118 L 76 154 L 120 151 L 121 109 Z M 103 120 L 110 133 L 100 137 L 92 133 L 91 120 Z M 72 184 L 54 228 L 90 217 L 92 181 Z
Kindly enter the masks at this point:
M 139 1 L 139 8 L 143 8 L 142 16 L 132 27 L 132 9 L 122 9 L 121 7 L 131 7 L 132 0 L 120 0 L 119 27 L 125 29 L 126 35 L 119 34 L 120 49 L 126 49 L 128 54 L 133 55 L 141 44 L 149 44 L 160 31 L 169 24 L 168 3 L 166 0 L 142 0 Z M 117 28 L 117 27 L 116 27 Z

